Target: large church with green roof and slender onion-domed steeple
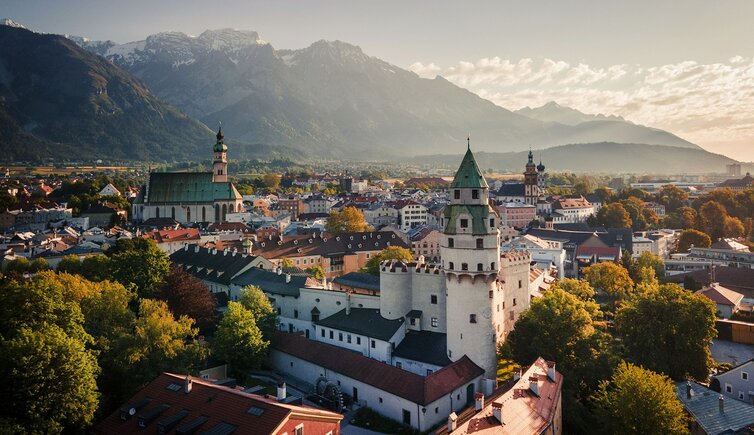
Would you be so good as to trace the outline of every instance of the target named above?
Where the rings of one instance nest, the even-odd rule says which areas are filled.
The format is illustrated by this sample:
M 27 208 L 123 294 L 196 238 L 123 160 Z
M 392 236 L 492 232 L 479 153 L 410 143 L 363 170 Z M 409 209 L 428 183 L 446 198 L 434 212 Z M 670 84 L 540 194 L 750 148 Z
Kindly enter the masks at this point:
M 150 172 L 133 203 L 134 222 L 225 222 L 228 213 L 242 211 L 243 198 L 228 181 L 228 146 L 223 139 L 219 130 L 212 172 Z

